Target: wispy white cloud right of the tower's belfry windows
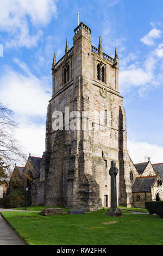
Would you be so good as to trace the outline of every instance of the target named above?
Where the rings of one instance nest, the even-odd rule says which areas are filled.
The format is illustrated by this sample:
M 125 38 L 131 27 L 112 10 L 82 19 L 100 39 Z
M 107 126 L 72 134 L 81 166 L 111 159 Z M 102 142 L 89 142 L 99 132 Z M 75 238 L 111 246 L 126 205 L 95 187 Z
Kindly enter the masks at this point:
M 158 48 L 149 52 L 145 59 L 140 60 L 137 53 L 129 53 L 122 59 L 119 80 L 121 92 L 127 93 L 131 87 L 139 87 L 139 95 L 143 96 L 146 95 L 145 91 L 159 86 L 162 83 L 159 57 L 162 56 L 163 44 L 160 44 Z M 137 59 L 139 61 L 132 63 Z M 129 63 L 132 64 L 127 65 Z

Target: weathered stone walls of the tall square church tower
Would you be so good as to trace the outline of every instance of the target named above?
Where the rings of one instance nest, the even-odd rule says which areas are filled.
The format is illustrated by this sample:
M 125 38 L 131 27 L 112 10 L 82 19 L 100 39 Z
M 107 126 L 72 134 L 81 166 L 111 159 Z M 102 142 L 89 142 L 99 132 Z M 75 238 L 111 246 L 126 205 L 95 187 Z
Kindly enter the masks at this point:
M 74 32 L 73 48 L 53 66 L 46 152 L 40 167 L 42 182 L 45 178 L 45 205 L 96 210 L 105 206 L 107 198 L 109 206 L 109 168 L 110 162 L 115 160 L 119 169 L 118 204 L 130 206 L 131 160 L 127 150 L 126 113 L 118 90 L 118 58 L 113 59 L 92 47 L 90 28 L 83 23 Z M 97 79 L 98 64 L 104 67 L 104 82 Z M 70 80 L 64 83 L 67 65 Z M 78 127 L 83 124 L 83 111 L 104 111 L 107 121 L 103 118 L 99 123 L 89 114 L 84 115 L 83 120 L 86 127 L 92 127 L 91 131 L 54 131 L 53 112 L 64 113 L 65 107 L 70 107 L 70 113 L 80 113 L 76 119 L 70 117 L 70 122 L 76 120 Z

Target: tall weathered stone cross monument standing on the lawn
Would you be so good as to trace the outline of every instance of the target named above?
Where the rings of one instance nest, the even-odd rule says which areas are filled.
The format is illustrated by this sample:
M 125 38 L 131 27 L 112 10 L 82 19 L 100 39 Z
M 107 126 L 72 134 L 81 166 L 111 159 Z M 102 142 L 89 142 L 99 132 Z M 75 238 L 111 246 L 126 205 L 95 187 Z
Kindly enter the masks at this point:
M 106 215 L 112 217 L 122 217 L 122 212 L 117 208 L 117 174 L 118 169 L 116 167 L 116 162 L 111 161 L 111 168 L 109 170 L 109 175 L 111 176 L 111 208 L 106 212 Z

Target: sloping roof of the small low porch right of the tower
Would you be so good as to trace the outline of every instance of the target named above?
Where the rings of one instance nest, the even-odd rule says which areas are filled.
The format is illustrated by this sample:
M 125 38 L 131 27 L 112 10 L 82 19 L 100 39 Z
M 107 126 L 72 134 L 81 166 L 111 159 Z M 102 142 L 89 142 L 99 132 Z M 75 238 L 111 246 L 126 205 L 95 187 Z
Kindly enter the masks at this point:
M 149 192 L 150 187 L 154 184 L 155 176 L 137 177 L 132 186 L 132 192 Z

